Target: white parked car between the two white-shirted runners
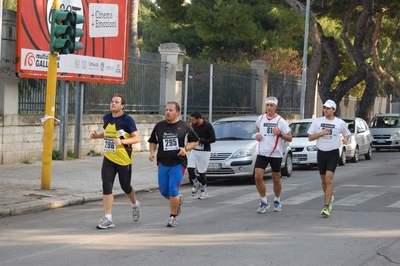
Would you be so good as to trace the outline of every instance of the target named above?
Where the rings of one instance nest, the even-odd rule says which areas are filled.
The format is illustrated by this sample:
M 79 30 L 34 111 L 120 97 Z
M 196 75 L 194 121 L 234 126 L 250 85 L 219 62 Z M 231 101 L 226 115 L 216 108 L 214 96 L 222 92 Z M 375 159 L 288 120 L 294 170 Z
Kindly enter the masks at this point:
M 307 133 L 313 121 L 313 118 L 306 118 L 289 124 L 293 137 L 292 142 L 289 143 L 289 146 L 292 150 L 292 162 L 294 165 L 317 165 L 317 141 L 309 141 Z M 346 147 L 343 147 L 343 145 L 340 146 L 339 154 L 339 165 L 345 165 Z

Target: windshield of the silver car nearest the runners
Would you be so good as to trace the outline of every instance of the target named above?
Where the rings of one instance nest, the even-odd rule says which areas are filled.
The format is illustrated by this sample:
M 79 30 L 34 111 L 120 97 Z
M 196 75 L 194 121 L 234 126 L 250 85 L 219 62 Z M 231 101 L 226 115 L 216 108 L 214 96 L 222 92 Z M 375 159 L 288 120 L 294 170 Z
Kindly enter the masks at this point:
M 217 140 L 250 140 L 256 133 L 255 121 L 217 121 L 213 127 Z

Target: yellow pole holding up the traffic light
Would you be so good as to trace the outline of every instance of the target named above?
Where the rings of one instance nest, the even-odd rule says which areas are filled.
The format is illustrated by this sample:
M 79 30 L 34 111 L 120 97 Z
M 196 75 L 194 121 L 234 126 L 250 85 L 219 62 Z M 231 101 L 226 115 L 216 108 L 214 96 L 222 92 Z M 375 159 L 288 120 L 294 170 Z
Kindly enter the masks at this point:
M 54 0 L 52 8 L 59 8 L 59 6 L 60 6 L 60 1 Z M 45 115 L 47 115 L 49 119 L 46 119 L 44 121 L 41 189 L 50 189 L 50 183 L 51 183 L 54 113 L 56 105 L 56 85 L 57 85 L 57 53 L 50 52 L 49 66 L 47 69 L 46 106 L 45 106 Z

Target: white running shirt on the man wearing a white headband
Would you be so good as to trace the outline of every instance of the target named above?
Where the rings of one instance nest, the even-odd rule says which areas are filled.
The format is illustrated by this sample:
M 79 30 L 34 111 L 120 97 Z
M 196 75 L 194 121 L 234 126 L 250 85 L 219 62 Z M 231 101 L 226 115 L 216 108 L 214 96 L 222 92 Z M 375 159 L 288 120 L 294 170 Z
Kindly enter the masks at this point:
M 282 138 L 272 133 L 272 128 L 277 127 L 282 134 L 290 132 L 290 128 L 280 115 L 274 118 L 268 118 L 267 114 L 260 115 L 256 120 L 259 133 L 261 134 L 261 141 L 258 142 L 258 155 L 282 158 Z

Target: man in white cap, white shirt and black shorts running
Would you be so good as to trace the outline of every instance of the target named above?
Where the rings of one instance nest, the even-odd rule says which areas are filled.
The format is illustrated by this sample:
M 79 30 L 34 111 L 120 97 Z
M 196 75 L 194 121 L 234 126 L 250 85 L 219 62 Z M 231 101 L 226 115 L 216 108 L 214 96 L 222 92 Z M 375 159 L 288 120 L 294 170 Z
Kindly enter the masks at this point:
M 317 164 L 324 191 L 324 207 L 321 215 L 328 217 L 332 210 L 333 177 L 339 162 L 341 141 L 347 144 L 350 131 L 346 123 L 335 117 L 336 103 L 327 100 L 324 105 L 324 116 L 315 119 L 308 129 L 308 140 L 317 141 Z M 341 140 L 342 138 L 342 140 Z

